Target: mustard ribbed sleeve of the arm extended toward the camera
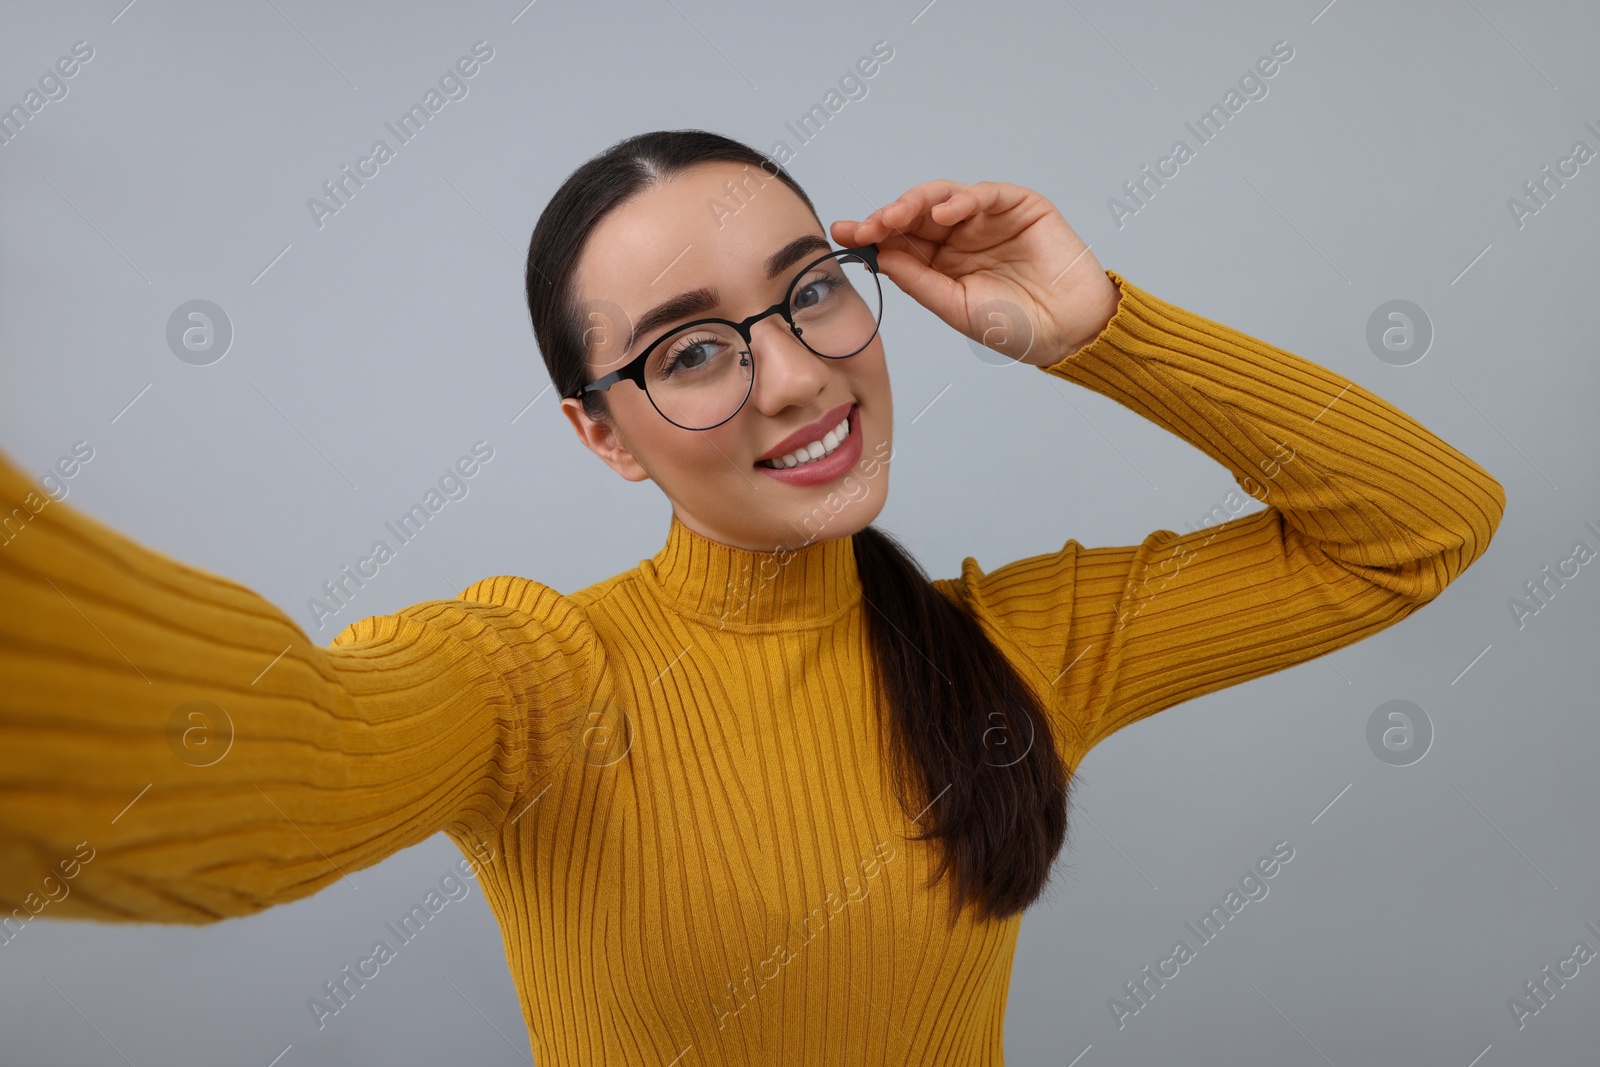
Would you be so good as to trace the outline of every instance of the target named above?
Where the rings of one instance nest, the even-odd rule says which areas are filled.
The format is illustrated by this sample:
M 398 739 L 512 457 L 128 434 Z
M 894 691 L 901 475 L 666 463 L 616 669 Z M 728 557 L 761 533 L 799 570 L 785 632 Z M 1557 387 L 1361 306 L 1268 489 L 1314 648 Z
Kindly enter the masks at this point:
M 485 585 L 318 646 L 0 454 L 0 941 L 34 915 L 248 915 L 438 830 L 493 840 L 597 640 L 550 589 Z

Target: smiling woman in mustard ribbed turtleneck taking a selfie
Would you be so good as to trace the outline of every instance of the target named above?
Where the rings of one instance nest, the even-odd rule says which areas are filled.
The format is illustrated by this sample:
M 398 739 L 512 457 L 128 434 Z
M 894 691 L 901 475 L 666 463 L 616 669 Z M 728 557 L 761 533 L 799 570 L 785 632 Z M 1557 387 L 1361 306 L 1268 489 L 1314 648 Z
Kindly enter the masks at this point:
M 702 131 L 555 194 L 528 254 L 547 370 L 579 440 L 672 502 L 651 560 L 570 595 L 490 577 L 318 648 L 0 466 L 24 523 L 0 550 L 8 929 L 248 915 L 445 830 L 482 861 L 541 1067 L 1002 1062 L 1088 750 L 1398 622 L 1504 493 L 1360 386 L 1104 270 L 1027 189 L 931 181 L 830 237 Z M 928 582 L 870 525 L 878 272 L 1266 509 Z

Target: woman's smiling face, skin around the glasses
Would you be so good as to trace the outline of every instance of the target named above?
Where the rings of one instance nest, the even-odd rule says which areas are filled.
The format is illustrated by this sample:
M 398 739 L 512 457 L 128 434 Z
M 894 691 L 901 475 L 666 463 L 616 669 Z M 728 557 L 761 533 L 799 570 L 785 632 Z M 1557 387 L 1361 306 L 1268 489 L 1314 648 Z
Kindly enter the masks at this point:
M 814 246 L 795 250 L 768 277 L 770 259 L 802 237 L 816 238 Z M 678 325 L 706 317 L 738 322 L 776 304 L 800 269 L 830 250 L 805 202 L 757 166 L 702 163 L 646 189 L 594 229 L 578 262 L 578 301 L 594 312 L 586 315 L 594 323 L 589 379 L 624 366 Z M 642 331 L 627 344 L 632 323 L 701 288 L 714 294 L 709 310 Z M 653 480 L 678 520 L 714 541 L 774 550 L 861 530 L 883 507 L 893 451 L 882 333 L 843 360 L 813 354 L 779 315 L 755 323 L 750 336 L 750 397 L 714 429 L 669 422 L 630 381 L 603 394 L 608 421 L 589 419 L 578 400 L 563 400 L 562 408 L 613 470 L 629 482 Z M 797 443 L 821 440 L 845 419 L 850 434 L 826 458 L 782 472 L 758 462 L 778 446 L 794 451 L 787 438 L 795 432 L 814 429 Z

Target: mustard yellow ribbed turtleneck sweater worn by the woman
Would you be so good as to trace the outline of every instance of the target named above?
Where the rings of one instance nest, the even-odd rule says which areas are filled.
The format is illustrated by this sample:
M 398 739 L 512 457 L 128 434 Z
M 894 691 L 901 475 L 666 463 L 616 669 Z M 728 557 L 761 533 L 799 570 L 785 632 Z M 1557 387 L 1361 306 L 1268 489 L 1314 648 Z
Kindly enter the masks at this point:
M 1045 371 L 1267 507 L 936 582 L 1037 688 L 1070 768 L 1398 622 L 1506 502 L 1360 386 L 1107 275 L 1110 323 Z M 494 857 L 480 880 L 539 1067 L 1003 1062 L 1021 918 L 950 929 L 947 883 L 923 888 L 936 853 L 888 782 L 850 537 L 773 566 L 674 518 L 587 589 L 490 577 L 318 646 L 250 589 L 42 501 L 0 458 L 13 928 L 250 915 L 445 830 Z M 210 766 L 176 755 L 189 701 L 234 725 Z

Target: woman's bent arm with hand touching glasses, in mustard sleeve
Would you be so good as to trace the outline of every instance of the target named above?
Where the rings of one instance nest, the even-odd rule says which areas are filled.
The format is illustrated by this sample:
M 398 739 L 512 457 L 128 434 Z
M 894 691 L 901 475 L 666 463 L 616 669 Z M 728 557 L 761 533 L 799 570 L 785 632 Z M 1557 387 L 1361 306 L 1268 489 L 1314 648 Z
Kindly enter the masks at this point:
M 877 243 L 952 328 L 1138 411 L 1267 504 L 992 574 L 966 558 L 936 582 L 1035 678 L 1074 765 L 1163 707 L 1394 625 L 1494 536 L 1506 493 L 1475 462 L 1333 371 L 1104 270 L 1030 189 L 922 182 L 834 238 Z

